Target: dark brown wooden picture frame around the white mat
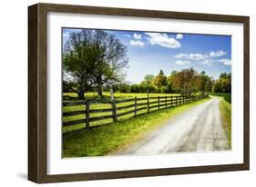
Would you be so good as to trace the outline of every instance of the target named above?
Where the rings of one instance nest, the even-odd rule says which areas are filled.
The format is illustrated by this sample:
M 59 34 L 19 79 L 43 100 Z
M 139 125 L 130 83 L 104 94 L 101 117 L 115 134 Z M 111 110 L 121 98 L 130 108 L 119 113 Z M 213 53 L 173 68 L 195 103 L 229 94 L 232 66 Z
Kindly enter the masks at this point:
M 46 15 L 62 12 L 92 15 L 127 15 L 154 18 L 218 21 L 242 23 L 244 28 L 244 119 L 243 163 L 197 167 L 149 169 L 122 172 L 90 172 L 47 175 L 46 173 Z M 248 16 L 208 15 L 153 10 L 137 10 L 82 5 L 37 4 L 28 7 L 28 179 L 33 182 L 72 182 L 127 177 L 186 174 L 200 172 L 228 172 L 249 170 L 250 165 L 250 80 L 249 80 Z

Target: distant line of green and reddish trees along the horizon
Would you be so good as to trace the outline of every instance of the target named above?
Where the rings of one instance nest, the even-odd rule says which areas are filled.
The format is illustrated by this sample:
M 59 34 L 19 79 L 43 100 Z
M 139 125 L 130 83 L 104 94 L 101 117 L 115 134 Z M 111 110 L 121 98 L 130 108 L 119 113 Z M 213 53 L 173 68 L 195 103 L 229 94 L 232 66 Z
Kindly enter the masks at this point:
M 230 92 L 231 74 L 220 74 L 214 81 L 213 77 L 204 71 L 198 73 L 195 69 L 173 71 L 165 75 L 162 70 L 159 74 L 147 74 L 140 84 L 118 84 L 115 91 L 121 93 L 160 93 L 160 94 L 192 94 L 196 92 Z

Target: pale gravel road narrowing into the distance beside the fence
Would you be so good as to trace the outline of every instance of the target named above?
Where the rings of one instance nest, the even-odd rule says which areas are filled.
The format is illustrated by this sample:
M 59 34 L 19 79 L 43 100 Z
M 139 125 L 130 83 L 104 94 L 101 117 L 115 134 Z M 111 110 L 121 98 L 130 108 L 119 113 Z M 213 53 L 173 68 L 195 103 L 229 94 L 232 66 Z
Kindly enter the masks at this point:
M 220 101 L 212 98 L 172 118 L 144 140 L 118 154 L 208 152 L 229 149 L 220 121 Z

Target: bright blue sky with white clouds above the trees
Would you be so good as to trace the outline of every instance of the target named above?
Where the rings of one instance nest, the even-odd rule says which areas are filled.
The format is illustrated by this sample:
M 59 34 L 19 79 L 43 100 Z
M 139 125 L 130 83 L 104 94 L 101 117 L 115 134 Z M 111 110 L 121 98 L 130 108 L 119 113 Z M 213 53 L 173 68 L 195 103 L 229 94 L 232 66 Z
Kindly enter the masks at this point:
M 69 32 L 63 30 L 64 44 Z M 126 81 L 139 84 L 146 74 L 169 75 L 173 70 L 194 67 L 217 79 L 231 71 L 231 36 L 213 34 L 107 31 L 128 47 Z

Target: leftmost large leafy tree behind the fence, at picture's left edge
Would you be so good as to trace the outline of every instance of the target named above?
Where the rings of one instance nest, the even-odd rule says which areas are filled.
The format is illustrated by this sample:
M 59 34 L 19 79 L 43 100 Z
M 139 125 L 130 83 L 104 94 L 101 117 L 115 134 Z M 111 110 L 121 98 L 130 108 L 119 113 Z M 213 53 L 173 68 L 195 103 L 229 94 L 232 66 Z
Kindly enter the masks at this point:
M 70 33 L 63 52 L 64 84 L 80 99 L 94 84 L 92 72 L 98 54 L 91 37 L 88 31 Z

